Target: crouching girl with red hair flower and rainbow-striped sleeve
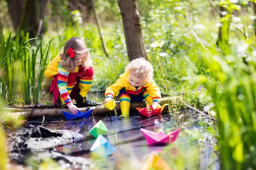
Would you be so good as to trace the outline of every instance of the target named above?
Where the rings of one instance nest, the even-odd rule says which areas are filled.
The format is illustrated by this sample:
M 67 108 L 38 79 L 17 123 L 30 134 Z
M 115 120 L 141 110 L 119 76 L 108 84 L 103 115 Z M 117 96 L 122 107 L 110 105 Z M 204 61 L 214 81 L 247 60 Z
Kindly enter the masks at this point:
M 86 98 L 93 80 L 93 65 L 84 39 L 73 37 L 68 40 L 44 74 L 52 79 L 50 93 L 54 96 L 54 104 L 59 107 L 67 105 L 73 114 L 77 114 L 78 108 L 73 105 L 72 99 L 76 99 L 82 107 L 96 105 L 96 102 Z

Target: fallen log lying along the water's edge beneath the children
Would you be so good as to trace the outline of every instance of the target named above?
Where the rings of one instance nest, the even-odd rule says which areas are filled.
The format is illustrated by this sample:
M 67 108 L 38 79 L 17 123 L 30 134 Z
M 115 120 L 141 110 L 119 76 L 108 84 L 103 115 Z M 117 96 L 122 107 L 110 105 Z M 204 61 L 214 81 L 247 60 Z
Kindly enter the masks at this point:
M 174 100 L 175 97 L 166 97 L 162 98 L 160 105 L 163 105 L 165 103 L 169 103 L 172 100 Z M 136 108 L 145 108 L 146 107 L 146 102 L 133 102 L 131 104 L 131 110 L 135 110 Z M 103 103 L 102 105 L 94 106 L 94 107 L 87 107 L 87 108 L 79 108 L 81 112 L 85 112 L 88 110 L 93 109 L 93 114 L 103 114 L 107 112 L 113 112 L 110 111 L 106 108 L 104 108 Z M 116 111 L 120 111 L 120 104 L 119 102 L 116 102 Z M 5 112 L 19 112 L 21 116 L 24 116 L 26 118 L 31 118 L 31 117 L 42 117 L 44 116 L 53 116 L 53 117 L 62 117 L 63 114 L 61 111 L 66 111 L 70 112 L 68 108 L 60 109 L 60 108 L 3 108 Z

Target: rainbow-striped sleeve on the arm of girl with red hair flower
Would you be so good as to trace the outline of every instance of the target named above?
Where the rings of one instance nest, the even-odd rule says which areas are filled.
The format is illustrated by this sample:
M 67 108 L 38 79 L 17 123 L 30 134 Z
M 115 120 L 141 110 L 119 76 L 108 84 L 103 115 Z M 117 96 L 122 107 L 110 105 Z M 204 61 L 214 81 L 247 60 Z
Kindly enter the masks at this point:
M 66 71 L 65 68 L 58 63 L 58 88 L 65 105 L 72 102 L 67 91 L 68 74 L 69 71 Z

